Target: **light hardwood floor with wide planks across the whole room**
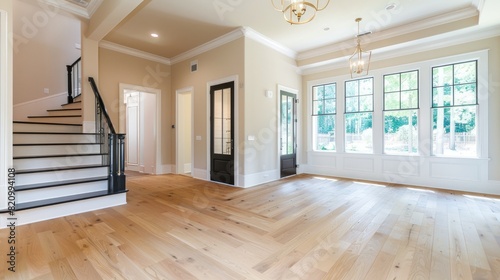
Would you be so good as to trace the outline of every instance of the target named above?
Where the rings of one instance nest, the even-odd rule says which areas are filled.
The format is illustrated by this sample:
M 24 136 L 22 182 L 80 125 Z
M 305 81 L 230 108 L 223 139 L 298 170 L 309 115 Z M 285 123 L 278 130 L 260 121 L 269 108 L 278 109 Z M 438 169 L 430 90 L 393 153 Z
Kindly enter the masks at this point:
M 500 279 L 500 200 L 299 175 L 131 176 L 128 204 L 17 228 L 1 279 Z

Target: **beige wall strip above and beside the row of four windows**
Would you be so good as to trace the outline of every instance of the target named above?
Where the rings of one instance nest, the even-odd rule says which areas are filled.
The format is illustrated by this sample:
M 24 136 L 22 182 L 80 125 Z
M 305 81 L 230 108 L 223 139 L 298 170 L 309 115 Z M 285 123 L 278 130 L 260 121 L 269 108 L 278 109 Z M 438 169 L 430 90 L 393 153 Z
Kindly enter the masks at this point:
M 432 51 L 425 51 L 421 53 L 414 53 L 409 56 L 397 57 L 393 59 L 386 59 L 383 61 L 376 61 L 370 65 L 370 69 L 380 69 L 396 65 L 414 63 L 419 61 L 431 60 L 441 57 L 447 57 L 452 55 L 458 55 L 468 52 L 474 52 L 478 50 L 489 49 L 489 107 L 488 107 L 488 124 L 489 124 L 489 179 L 490 180 L 500 180 L 500 146 L 497 144 L 500 138 L 500 126 L 498 121 L 500 120 L 500 37 L 494 37 L 490 39 L 475 41 L 467 44 L 461 44 L 456 46 L 450 46 L 446 48 L 440 48 Z M 372 57 L 372 59 L 375 57 Z M 322 78 L 335 77 L 340 75 L 345 75 L 348 71 L 347 66 L 345 69 L 337 69 L 332 71 L 325 71 L 322 73 L 316 73 L 311 75 L 305 75 L 302 79 L 302 90 L 307 92 L 307 82 L 319 80 Z M 480 81 L 481 82 L 481 81 Z M 304 102 L 307 103 L 307 102 Z M 306 106 L 303 104 L 303 106 Z M 305 107 L 303 107 L 305 109 Z M 304 110 L 303 112 L 306 112 Z M 303 121 L 307 121 L 307 115 L 303 114 Z M 305 137 L 307 131 L 303 130 L 302 134 Z M 307 138 L 305 138 L 307 139 Z M 306 155 L 306 151 L 303 150 L 303 155 Z

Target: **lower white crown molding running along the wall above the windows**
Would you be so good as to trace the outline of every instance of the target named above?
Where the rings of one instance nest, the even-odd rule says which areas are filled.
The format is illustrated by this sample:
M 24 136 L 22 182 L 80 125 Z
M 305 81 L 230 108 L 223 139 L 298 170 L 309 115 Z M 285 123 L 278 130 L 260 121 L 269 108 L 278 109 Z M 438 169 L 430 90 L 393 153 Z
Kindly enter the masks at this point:
M 412 55 L 419 52 L 431 51 L 459 44 L 484 40 L 497 36 L 500 36 L 500 25 L 490 26 L 483 29 L 471 27 L 467 28 L 466 30 L 453 31 L 446 34 L 435 35 L 424 39 L 418 39 L 415 41 L 372 50 L 371 61 L 383 61 L 401 56 Z M 299 67 L 300 73 L 302 73 L 302 75 L 311 75 L 341 68 L 348 69 L 348 56 Z

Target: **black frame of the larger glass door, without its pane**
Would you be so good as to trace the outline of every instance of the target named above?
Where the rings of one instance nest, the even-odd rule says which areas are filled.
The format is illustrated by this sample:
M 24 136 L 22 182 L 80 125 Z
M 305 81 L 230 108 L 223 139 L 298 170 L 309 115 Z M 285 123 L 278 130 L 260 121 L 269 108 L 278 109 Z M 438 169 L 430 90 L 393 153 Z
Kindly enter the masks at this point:
M 230 132 L 230 155 L 215 154 L 214 152 L 214 92 L 222 89 L 231 89 L 231 132 Z M 229 185 L 235 185 L 235 81 L 223 82 L 210 86 L 209 98 L 209 122 L 210 122 L 210 180 Z

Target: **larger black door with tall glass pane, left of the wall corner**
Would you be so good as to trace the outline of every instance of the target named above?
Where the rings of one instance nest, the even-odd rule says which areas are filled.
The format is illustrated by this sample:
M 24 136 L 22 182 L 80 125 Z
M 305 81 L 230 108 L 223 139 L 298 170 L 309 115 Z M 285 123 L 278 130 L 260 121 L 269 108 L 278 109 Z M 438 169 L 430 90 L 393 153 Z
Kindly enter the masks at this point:
M 234 185 L 234 82 L 210 87 L 210 179 Z

